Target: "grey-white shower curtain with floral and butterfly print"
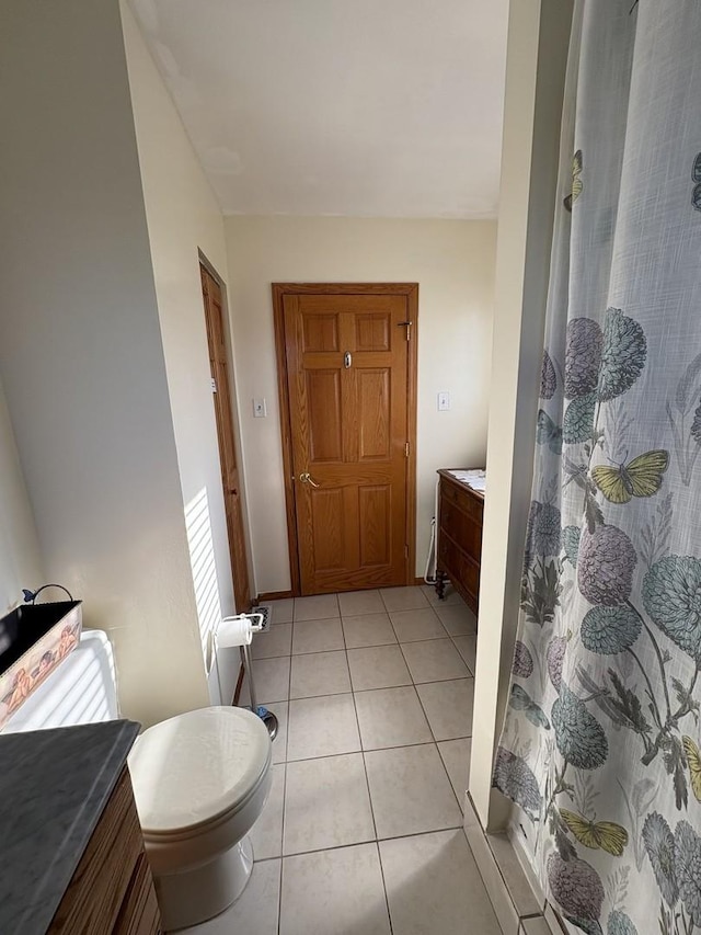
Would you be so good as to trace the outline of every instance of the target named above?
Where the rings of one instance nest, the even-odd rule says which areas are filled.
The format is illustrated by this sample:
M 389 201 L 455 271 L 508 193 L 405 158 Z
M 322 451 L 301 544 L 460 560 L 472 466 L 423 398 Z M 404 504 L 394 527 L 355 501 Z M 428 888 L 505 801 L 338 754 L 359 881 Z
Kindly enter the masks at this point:
M 494 785 L 575 931 L 701 931 L 701 2 L 576 0 Z

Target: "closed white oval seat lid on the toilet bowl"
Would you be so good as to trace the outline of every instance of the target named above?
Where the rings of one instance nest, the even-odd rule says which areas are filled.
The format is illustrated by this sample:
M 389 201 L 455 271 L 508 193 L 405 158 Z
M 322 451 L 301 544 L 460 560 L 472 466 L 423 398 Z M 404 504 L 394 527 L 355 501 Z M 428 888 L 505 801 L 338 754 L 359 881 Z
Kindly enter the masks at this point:
M 146 832 L 175 833 L 235 808 L 271 761 L 263 721 L 233 707 L 200 708 L 146 730 L 129 755 Z

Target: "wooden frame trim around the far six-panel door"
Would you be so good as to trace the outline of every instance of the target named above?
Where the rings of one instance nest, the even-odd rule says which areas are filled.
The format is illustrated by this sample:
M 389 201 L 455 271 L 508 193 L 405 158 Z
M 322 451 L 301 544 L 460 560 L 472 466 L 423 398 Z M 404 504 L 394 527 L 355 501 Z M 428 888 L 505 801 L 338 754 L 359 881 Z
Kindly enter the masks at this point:
M 287 356 L 285 353 L 285 295 L 399 295 L 407 297 L 412 335 L 407 357 L 406 432 L 410 442 L 406 468 L 406 558 L 405 583 L 412 584 L 416 575 L 416 384 L 418 377 L 418 283 L 273 283 L 273 323 L 275 327 L 275 356 L 277 360 L 277 391 L 280 409 L 280 435 L 283 444 L 283 470 L 285 474 L 285 510 L 287 514 L 287 543 L 289 548 L 289 592 L 286 597 L 301 594 L 299 572 L 299 547 L 295 510 L 295 484 L 292 483 L 292 436 L 289 414 L 289 390 L 287 384 Z M 268 600 L 274 600 L 268 597 Z

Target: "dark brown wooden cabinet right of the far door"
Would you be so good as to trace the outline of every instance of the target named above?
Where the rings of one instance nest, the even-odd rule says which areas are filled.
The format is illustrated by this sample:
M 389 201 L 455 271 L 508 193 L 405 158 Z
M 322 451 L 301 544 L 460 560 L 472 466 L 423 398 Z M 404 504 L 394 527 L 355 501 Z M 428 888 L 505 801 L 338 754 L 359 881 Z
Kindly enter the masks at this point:
M 436 591 L 443 597 L 446 578 L 478 613 L 484 494 L 458 480 L 447 469 L 438 471 L 438 549 Z

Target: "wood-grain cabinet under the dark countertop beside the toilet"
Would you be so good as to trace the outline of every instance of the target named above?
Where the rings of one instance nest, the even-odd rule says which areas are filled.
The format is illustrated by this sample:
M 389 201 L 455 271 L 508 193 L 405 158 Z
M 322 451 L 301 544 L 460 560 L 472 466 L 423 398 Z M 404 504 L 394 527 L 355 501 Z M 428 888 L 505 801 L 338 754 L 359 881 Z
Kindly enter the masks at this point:
M 162 932 L 126 767 L 48 931 L 51 935 L 160 935 Z

